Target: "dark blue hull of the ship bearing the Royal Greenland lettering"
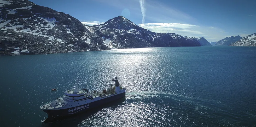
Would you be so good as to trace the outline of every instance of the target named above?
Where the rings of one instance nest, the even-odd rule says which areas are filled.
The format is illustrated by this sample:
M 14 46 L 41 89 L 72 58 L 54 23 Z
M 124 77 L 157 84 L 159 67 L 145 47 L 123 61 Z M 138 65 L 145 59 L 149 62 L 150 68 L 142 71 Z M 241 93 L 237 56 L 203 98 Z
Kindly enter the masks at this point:
M 103 99 L 100 99 L 98 101 L 95 102 L 90 102 L 87 104 L 83 104 L 83 105 L 79 105 L 76 107 L 72 107 L 72 108 L 67 108 L 67 109 L 59 109 L 59 110 L 43 110 L 44 112 L 46 112 L 48 114 L 48 118 L 44 120 L 44 122 L 53 122 L 59 119 L 64 119 L 66 117 L 69 116 L 73 116 L 73 115 L 77 115 L 79 113 L 84 113 L 88 110 L 91 110 L 93 108 L 96 108 L 98 106 L 101 105 L 106 105 L 109 102 L 113 102 L 116 101 L 120 98 L 125 97 L 125 92 L 124 93 L 120 93 L 111 97 L 106 97 Z

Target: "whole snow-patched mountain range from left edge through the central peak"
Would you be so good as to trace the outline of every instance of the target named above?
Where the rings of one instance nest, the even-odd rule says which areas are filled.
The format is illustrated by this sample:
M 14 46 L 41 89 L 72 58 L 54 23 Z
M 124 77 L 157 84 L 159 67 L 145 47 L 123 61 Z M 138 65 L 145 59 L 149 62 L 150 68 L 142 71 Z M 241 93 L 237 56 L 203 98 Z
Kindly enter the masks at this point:
M 123 16 L 95 26 L 28 0 L 0 0 L 0 54 L 53 54 L 119 48 L 201 46 L 174 33 L 155 33 Z

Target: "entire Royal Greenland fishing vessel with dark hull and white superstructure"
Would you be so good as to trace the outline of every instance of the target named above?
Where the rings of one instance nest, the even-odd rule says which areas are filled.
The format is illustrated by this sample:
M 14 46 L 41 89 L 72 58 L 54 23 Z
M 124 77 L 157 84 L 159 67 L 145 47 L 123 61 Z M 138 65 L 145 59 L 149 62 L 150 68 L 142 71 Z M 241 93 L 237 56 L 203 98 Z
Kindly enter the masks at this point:
M 108 88 L 101 92 L 79 89 L 76 85 L 73 89 L 67 90 L 63 96 L 41 105 L 40 109 L 48 114 L 48 118 L 44 122 L 52 122 L 56 119 L 82 113 L 125 97 L 126 89 L 119 86 L 117 77 L 112 81 L 115 82 L 115 86 L 113 87 L 112 84 L 105 85 Z

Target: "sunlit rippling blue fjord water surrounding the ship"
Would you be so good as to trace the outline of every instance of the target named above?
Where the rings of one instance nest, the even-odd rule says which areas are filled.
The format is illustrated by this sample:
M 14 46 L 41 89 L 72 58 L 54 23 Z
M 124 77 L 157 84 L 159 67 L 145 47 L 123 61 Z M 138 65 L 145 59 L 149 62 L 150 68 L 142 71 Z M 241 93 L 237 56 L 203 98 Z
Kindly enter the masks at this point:
M 120 49 L 0 57 L 0 125 L 255 126 L 256 47 Z M 39 109 L 75 79 L 102 90 L 117 76 L 124 101 L 54 123 Z M 51 89 L 57 88 L 57 91 Z

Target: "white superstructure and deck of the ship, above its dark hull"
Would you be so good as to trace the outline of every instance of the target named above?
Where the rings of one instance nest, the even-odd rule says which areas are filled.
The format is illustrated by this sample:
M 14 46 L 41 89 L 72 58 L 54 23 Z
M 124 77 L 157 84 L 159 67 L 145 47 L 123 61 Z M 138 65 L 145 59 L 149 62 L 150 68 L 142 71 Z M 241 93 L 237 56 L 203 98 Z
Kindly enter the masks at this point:
M 117 78 L 115 79 L 117 80 Z M 114 79 L 113 79 L 114 81 Z M 117 81 L 118 83 L 118 81 Z M 40 106 L 41 110 L 59 110 L 59 109 L 67 109 L 76 106 L 83 106 L 83 109 L 86 108 L 86 105 L 95 101 L 99 101 L 101 99 L 111 97 L 120 93 L 125 93 L 125 88 L 119 86 L 112 87 L 112 84 L 107 89 L 102 92 L 81 90 L 78 86 L 74 86 L 73 89 L 67 90 L 67 92 L 62 96 L 57 98 L 54 101 L 47 102 Z

